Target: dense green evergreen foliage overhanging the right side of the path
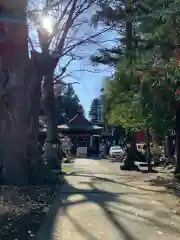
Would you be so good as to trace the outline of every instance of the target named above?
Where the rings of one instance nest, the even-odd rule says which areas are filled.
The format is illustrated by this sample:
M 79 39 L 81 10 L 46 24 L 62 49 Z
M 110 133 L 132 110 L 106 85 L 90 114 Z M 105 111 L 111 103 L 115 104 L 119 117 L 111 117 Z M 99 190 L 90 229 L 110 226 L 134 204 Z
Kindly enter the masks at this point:
M 91 58 L 116 69 L 113 81 L 106 86 L 107 119 L 131 132 L 149 127 L 158 131 L 172 128 L 176 106 L 174 78 L 179 76 L 173 61 L 173 50 L 179 44 L 179 10 L 173 5 L 177 6 L 177 1 L 113 3 L 114 6 L 103 5 L 96 19 L 124 34 L 118 53 L 102 49 L 100 55 Z M 137 18 L 138 22 L 134 21 Z M 176 172 L 179 171 L 180 153 Z

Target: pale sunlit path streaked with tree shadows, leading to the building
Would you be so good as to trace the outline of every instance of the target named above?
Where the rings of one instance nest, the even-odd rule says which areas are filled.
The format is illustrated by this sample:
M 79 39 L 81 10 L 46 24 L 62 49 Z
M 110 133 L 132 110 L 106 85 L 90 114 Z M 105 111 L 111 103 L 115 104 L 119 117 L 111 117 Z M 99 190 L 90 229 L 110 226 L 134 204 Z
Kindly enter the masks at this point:
M 147 175 L 78 159 L 37 240 L 178 240 L 177 200 Z

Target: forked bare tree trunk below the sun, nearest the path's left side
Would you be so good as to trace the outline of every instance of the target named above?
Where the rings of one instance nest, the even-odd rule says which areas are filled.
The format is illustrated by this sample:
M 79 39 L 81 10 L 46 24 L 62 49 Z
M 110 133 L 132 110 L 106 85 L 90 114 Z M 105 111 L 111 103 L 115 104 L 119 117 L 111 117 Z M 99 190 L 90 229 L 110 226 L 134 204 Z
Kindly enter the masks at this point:
M 72 1 L 71 8 L 67 16 L 67 21 L 65 22 L 64 30 L 62 32 L 62 36 L 60 38 L 60 41 L 55 51 L 53 51 L 55 55 L 57 55 L 56 53 L 59 53 L 58 57 L 57 56 L 53 57 L 53 54 L 52 55 L 49 54 L 50 41 L 47 42 L 46 39 L 44 39 L 41 32 L 40 31 L 38 32 L 40 46 L 42 49 L 42 56 L 45 57 L 46 64 L 48 64 L 47 66 L 43 67 L 44 68 L 43 72 L 47 71 L 45 74 L 43 74 L 44 75 L 44 95 L 45 95 L 44 106 L 45 106 L 45 116 L 47 120 L 46 156 L 47 158 L 52 158 L 53 152 L 54 153 L 56 152 L 54 154 L 56 155 L 55 157 L 56 160 L 58 159 L 57 155 L 59 155 L 60 157 L 62 156 L 60 152 L 57 151 L 57 149 L 56 150 L 53 149 L 53 144 L 52 144 L 52 142 L 57 141 L 57 125 L 56 125 L 56 118 L 55 118 L 55 96 L 54 96 L 54 86 L 53 86 L 53 73 L 57 66 L 57 62 L 59 61 L 62 55 L 67 34 L 74 23 L 75 18 L 73 14 L 76 11 L 77 3 L 78 3 L 78 0 Z M 48 6 L 48 2 L 46 1 L 46 7 L 47 6 Z M 58 152 L 59 154 L 57 154 Z

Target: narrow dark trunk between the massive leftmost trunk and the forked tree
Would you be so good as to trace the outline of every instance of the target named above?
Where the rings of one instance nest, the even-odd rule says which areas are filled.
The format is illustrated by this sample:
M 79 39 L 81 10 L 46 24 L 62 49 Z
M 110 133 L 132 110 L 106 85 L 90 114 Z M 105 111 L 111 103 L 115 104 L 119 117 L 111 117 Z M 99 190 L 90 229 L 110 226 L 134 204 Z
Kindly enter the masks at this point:
M 40 116 L 40 99 L 41 99 L 41 83 L 42 76 L 39 72 L 35 61 L 31 60 L 29 66 L 28 78 L 29 84 L 29 116 L 28 116 L 28 145 L 27 158 L 29 162 L 28 177 L 29 181 L 35 183 L 39 177 L 39 163 L 41 160 L 40 150 L 38 146 L 39 140 L 39 116 Z M 33 74 L 32 74 L 33 73 Z

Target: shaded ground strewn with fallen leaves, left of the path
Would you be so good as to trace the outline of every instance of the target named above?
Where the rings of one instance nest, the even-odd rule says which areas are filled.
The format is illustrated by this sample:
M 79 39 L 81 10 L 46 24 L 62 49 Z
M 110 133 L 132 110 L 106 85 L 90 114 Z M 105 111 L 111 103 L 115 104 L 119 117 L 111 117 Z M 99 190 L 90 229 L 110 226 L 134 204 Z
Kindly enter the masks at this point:
M 53 203 L 57 193 L 55 189 L 53 186 L 1 186 L 0 239 L 32 239 Z

